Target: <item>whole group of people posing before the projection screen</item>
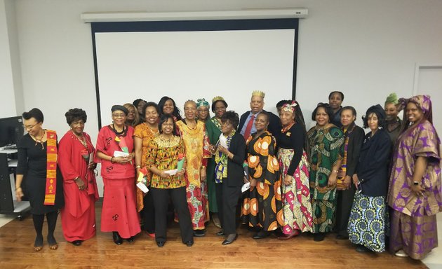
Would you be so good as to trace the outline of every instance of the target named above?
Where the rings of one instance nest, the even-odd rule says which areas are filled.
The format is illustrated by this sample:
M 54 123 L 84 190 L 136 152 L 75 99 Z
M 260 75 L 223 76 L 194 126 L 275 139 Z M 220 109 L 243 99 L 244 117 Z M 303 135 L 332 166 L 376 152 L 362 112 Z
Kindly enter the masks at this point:
M 363 116 L 367 134 L 343 100 L 342 92 L 331 92 L 307 131 L 299 102 L 282 100 L 276 116 L 264 111 L 260 91 L 241 117 L 227 111 L 220 96 L 211 104 L 188 100 L 184 117 L 170 97 L 158 104 L 137 99 L 112 106 L 112 124 L 101 128 L 95 147 L 83 130 L 82 109 L 67 111 L 70 130 L 60 142 L 55 131 L 43 129 L 39 109 L 25 112 L 16 196 L 25 193 L 31 202 L 34 250 L 43 247 L 45 214 L 48 244 L 57 249 L 59 209 L 68 242 L 80 245 L 95 235 L 94 169 L 101 163 L 101 230 L 112 232 L 116 244 L 133 242 L 142 223 L 163 247 L 170 212 L 187 247 L 206 234 L 210 219 L 225 237 L 222 244 L 231 244 L 241 207 L 241 223 L 256 240 L 309 232 L 322 241 L 335 232 L 356 251 L 389 247 L 396 256 L 421 259 L 438 245 L 436 213 L 442 210 L 431 100 L 389 95 L 384 107 L 370 106 Z

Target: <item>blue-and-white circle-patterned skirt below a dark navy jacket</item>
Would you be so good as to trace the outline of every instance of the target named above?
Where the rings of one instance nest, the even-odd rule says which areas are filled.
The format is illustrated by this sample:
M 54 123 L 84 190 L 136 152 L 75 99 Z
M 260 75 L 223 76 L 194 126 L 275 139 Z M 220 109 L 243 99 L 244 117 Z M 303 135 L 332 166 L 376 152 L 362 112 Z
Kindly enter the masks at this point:
M 384 251 L 387 214 L 383 196 L 370 197 L 356 193 L 347 229 L 349 240 L 353 244 L 362 244 L 371 251 Z

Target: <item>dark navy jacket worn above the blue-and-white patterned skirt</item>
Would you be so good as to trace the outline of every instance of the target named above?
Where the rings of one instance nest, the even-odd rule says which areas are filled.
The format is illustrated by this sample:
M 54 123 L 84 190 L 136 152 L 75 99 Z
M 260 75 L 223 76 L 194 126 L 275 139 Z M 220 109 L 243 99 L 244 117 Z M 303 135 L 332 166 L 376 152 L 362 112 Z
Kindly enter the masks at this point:
M 356 174 L 363 194 L 387 196 L 390 137 L 384 129 L 377 130 L 371 138 L 370 135 L 371 132 L 368 132 L 364 139 Z

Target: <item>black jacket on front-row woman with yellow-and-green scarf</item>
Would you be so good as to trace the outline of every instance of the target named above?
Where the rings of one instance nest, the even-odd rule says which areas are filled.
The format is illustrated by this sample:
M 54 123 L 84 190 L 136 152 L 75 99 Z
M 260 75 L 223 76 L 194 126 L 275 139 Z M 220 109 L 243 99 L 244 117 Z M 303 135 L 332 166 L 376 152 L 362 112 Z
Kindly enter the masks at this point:
M 228 186 L 243 186 L 244 171 L 243 163 L 246 160 L 246 140 L 239 133 L 236 132 L 230 141 L 229 151 L 233 153 L 232 160 L 227 160 L 227 185 Z M 225 179 L 223 179 L 225 180 Z M 225 183 L 224 181 L 222 182 Z

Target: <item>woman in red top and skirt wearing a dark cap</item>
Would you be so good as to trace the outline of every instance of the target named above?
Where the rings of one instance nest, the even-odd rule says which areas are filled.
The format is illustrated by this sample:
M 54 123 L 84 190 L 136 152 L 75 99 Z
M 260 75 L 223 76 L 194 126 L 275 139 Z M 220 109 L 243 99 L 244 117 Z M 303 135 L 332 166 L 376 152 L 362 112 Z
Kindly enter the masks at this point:
M 126 107 L 114 105 L 111 111 L 113 123 L 98 133 L 95 161 L 101 163 L 105 185 L 101 231 L 112 232 L 115 244 L 122 244 L 121 237 L 133 242 L 141 231 L 135 200 L 133 127 L 124 124 Z

